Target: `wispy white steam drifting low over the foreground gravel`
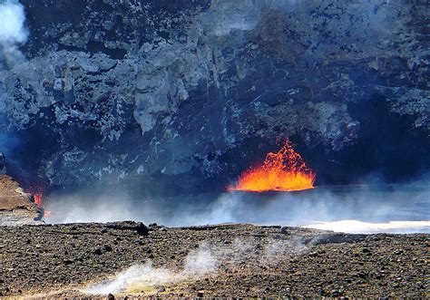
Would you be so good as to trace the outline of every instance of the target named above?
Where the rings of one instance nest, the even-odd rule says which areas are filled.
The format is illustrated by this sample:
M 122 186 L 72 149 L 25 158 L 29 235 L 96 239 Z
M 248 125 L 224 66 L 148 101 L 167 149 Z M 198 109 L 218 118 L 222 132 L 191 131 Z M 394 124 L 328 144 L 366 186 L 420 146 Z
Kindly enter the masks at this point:
M 259 249 L 256 238 L 236 238 L 230 245 L 210 245 L 205 242 L 196 250 L 191 250 L 181 271 L 154 267 L 149 261 L 131 266 L 111 280 L 87 286 L 82 292 L 107 295 L 143 290 L 155 294 L 159 286 L 198 280 L 202 276 L 216 276 L 222 272 L 222 267 L 245 266 L 249 260 L 258 260 L 261 266 L 275 266 L 288 256 L 298 256 L 308 251 L 303 241 L 294 237 L 286 240 L 269 239 L 262 249 Z

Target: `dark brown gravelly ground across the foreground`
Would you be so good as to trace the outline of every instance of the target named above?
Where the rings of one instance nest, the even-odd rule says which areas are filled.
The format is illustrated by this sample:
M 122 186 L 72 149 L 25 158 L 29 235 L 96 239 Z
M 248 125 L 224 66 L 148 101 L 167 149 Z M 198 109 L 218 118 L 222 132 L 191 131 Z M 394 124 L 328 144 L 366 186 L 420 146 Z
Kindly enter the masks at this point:
M 427 296 L 425 234 L 134 222 L 0 227 L 0 234 L 2 296 L 83 296 L 88 284 L 149 261 L 149 274 L 162 267 L 175 279 L 134 283 L 116 297 Z M 205 272 L 185 272 L 192 253 L 210 261 Z

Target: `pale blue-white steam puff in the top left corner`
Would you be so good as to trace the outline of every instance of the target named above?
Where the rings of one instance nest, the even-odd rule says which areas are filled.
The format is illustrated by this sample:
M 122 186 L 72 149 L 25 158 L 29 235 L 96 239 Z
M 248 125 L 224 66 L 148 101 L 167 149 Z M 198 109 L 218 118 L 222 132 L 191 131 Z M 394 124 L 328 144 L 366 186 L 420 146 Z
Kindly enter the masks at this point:
M 0 3 L 0 70 L 12 68 L 24 61 L 24 54 L 18 49 L 27 41 L 24 6 L 17 0 Z

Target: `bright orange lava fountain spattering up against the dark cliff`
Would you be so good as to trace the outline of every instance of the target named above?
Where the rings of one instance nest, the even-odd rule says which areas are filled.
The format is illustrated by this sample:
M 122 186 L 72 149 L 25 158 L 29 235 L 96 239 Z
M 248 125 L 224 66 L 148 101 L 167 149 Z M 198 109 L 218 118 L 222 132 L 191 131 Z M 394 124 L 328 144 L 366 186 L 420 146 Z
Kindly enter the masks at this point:
M 269 152 L 264 163 L 244 171 L 229 191 L 269 191 L 313 189 L 316 173 L 309 169 L 289 140 L 278 153 Z

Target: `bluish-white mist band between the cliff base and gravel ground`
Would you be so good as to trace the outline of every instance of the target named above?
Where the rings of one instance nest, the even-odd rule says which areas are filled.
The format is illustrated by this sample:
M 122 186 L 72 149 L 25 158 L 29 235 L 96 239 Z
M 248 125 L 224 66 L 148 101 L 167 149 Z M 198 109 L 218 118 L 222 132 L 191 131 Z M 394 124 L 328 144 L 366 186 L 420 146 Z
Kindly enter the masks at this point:
M 347 232 L 430 230 L 427 179 L 408 185 L 378 183 L 298 192 L 226 191 L 154 198 L 133 198 L 118 190 L 76 192 L 51 195 L 45 209 L 49 211 L 44 218 L 48 223 L 131 219 L 169 227 L 237 222 Z

